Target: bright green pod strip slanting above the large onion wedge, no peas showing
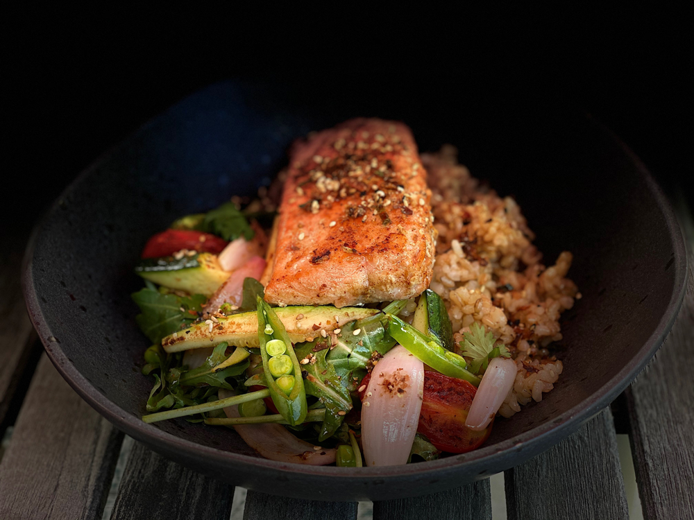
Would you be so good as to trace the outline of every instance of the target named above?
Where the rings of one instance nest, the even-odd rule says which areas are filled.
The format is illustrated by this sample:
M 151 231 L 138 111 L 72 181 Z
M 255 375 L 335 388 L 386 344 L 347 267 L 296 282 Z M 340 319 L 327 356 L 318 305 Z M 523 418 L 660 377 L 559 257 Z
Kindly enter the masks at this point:
M 386 319 L 391 337 L 414 354 L 418 360 L 443 375 L 464 379 L 475 386 L 480 385 L 480 378 L 465 370 L 467 363 L 462 356 L 444 349 L 432 338 L 403 322 L 397 316 L 388 314 Z

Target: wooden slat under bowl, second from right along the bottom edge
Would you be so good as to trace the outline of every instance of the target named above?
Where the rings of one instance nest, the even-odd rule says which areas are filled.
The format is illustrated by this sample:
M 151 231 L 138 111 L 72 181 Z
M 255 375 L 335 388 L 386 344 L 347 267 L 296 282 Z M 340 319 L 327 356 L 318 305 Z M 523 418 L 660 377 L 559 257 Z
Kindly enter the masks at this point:
M 505 481 L 509 520 L 629 518 L 609 408 Z

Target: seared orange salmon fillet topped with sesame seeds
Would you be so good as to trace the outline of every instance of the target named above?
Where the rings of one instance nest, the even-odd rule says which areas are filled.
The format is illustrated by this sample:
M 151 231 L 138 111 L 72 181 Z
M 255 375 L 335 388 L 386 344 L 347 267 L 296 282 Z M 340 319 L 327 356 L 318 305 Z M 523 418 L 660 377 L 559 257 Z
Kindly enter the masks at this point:
M 352 119 L 294 144 L 266 301 L 342 307 L 424 291 L 436 238 L 426 177 L 403 123 Z

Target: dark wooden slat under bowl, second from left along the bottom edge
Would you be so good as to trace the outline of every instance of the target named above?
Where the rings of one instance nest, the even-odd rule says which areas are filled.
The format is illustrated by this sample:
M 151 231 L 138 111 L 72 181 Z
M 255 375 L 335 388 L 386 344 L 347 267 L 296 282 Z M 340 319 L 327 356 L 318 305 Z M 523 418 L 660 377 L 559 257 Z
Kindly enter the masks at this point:
M 228 520 L 233 499 L 234 487 L 135 442 L 111 520 Z

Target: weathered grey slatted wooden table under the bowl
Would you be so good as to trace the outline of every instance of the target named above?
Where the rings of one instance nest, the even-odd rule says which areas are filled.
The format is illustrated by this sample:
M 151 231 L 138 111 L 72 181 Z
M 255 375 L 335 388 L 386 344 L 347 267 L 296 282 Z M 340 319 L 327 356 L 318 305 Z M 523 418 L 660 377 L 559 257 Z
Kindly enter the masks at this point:
M 618 433 L 629 435 L 643 517 L 694 518 L 694 224 L 684 202 L 676 206 L 688 236 L 690 271 L 675 327 L 609 408 L 564 442 L 505 471 L 509 519 L 629 518 Z M 42 354 L 19 283 L 26 233 L 6 233 L 0 250 L 0 519 L 99 519 L 124 435 L 78 397 Z M 126 439 L 128 446 L 111 519 L 229 519 L 232 486 L 133 440 Z M 373 503 L 373 518 L 380 520 L 491 517 L 489 479 Z M 355 519 L 357 503 L 249 491 L 243 518 Z

